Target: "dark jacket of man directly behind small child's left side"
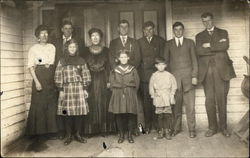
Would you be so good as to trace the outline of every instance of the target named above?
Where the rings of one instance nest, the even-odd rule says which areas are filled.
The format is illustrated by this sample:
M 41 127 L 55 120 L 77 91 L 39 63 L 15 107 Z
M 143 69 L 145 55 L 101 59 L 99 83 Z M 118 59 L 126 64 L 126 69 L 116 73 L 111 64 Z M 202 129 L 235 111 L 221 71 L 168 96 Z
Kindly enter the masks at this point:
M 138 40 L 141 54 L 139 74 L 142 82 L 148 83 L 152 73 L 156 71 L 155 58 L 163 56 L 165 43 L 163 38 L 156 35 L 152 37 L 150 43 L 145 36 Z

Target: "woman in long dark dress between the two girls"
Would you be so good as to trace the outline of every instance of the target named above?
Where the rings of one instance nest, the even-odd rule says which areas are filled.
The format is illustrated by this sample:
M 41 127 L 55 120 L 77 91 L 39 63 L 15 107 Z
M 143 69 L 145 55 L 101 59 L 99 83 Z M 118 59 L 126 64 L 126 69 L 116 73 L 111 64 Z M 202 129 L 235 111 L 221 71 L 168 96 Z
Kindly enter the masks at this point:
M 115 131 L 113 115 L 108 113 L 111 92 L 108 89 L 109 60 L 108 48 L 101 45 L 103 33 L 100 29 L 89 30 L 91 46 L 84 52 L 92 82 L 89 89 L 89 113 L 85 117 L 85 134 L 109 133 Z

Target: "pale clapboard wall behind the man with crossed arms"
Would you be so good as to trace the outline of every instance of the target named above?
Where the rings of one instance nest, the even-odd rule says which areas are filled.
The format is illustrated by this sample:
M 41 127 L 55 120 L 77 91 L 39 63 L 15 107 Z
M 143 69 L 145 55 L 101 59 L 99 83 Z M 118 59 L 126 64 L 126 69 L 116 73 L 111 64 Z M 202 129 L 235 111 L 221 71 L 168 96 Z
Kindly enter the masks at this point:
M 200 1 L 200 0 L 173 0 L 171 1 L 172 23 L 180 21 L 185 25 L 185 36 L 195 40 L 195 35 L 204 26 L 201 14 L 209 11 L 214 14 L 215 25 L 226 29 L 229 34 L 229 56 L 233 60 L 237 78 L 232 79 L 228 95 L 228 120 L 229 123 L 238 122 L 249 109 L 248 99 L 242 95 L 241 82 L 246 74 L 246 64 L 242 57 L 249 56 L 249 13 L 246 4 L 232 3 L 232 1 Z M 171 27 L 169 24 L 167 27 Z M 197 122 L 205 120 L 205 97 L 202 86 L 196 89 L 196 114 Z

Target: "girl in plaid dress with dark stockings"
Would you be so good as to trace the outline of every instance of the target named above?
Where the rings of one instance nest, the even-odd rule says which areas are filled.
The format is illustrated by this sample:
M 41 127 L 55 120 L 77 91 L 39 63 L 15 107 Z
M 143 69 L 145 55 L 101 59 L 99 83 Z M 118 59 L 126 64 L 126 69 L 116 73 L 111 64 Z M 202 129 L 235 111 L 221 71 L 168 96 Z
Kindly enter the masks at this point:
M 74 39 L 66 43 L 65 52 L 55 72 L 55 83 L 60 91 L 57 114 L 65 117 L 66 140 L 64 144 L 68 145 L 72 141 L 73 125 L 75 139 L 86 143 L 86 140 L 80 136 L 80 129 L 82 116 L 89 112 L 86 89 L 91 81 L 90 72 L 84 59 L 78 56 L 78 44 Z

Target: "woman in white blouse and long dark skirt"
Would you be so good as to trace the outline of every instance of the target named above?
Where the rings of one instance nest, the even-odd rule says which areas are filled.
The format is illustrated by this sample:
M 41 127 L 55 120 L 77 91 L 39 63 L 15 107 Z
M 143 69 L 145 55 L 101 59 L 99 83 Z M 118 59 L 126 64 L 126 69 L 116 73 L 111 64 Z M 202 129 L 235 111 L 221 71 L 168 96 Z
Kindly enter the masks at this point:
M 48 27 L 39 25 L 35 30 L 38 43 L 28 53 L 28 69 L 33 78 L 31 105 L 26 134 L 39 142 L 45 134 L 57 132 L 56 91 L 54 84 L 55 47 L 47 43 Z M 34 145 L 32 145 L 34 147 Z

